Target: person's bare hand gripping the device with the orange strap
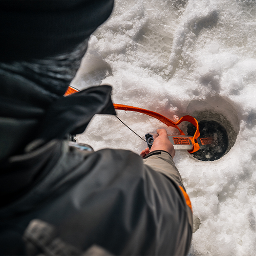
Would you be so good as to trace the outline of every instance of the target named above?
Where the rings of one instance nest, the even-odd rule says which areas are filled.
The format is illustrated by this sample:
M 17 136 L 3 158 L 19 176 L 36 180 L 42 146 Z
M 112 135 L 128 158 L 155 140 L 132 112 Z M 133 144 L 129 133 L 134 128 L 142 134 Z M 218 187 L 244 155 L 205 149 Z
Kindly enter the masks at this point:
M 141 151 L 140 156 L 143 158 L 148 153 L 156 150 L 163 150 L 168 152 L 172 158 L 175 156 L 175 149 L 173 144 L 169 141 L 167 132 L 165 129 L 158 129 L 157 134 L 153 134 L 154 142 L 151 147 L 151 150 L 147 147 L 145 150 Z

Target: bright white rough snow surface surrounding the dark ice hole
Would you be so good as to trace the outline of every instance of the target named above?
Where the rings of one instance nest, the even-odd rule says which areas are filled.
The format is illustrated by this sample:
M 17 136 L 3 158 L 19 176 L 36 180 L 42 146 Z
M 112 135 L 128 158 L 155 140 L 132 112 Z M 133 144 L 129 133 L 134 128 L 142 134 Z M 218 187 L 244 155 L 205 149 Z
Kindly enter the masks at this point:
M 72 82 L 78 89 L 110 84 L 114 103 L 172 120 L 200 116 L 196 111 L 229 120 L 233 145 L 221 159 L 202 162 L 184 151 L 174 158 L 199 226 L 190 255 L 256 255 L 255 18 L 255 0 L 117 0 Z M 166 128 L 139 113 L 117 112 L 141 137 Z M 77 140 L 94 150 L 139 153 L 146 146 L 106 115 L 95 116 Z

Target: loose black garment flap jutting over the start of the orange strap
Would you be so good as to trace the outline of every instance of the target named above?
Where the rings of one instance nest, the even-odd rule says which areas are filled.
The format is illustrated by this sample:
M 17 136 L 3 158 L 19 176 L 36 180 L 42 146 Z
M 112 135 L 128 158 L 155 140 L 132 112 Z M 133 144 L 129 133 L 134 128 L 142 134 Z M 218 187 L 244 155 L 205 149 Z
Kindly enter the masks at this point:
M 46 142 L 67 133 L 80 134 L 95 114 L 116 114 L 110 86 L 91 87 L 56 100 L 40 121 L 37 137 Z

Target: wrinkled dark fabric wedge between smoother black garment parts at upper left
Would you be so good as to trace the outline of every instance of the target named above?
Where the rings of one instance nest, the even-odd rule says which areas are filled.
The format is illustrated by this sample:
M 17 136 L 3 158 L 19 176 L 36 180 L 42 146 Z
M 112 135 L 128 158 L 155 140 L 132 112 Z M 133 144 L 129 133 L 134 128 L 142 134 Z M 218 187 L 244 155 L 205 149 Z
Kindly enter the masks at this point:
M 0 62 L 0 69 L 4 72 L 5 79 L 12 80 L 13 76 L 19 76 L 19 80 L 28 80 L 33 87 L 39 88 L 51 98 L 62 96 L 80 67 L 81 59 L 87 50 L 88 39 L 77 47 L 74 46 L 69 52 L 45 56 L 43 59 Z M 29 52 L 27 54 L 29 55 Z

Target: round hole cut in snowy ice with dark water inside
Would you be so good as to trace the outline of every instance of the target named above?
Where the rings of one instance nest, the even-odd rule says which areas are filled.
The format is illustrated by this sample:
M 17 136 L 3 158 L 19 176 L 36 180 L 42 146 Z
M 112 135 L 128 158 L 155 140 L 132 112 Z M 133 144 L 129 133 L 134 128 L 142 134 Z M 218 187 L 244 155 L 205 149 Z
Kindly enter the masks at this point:
M 193 156 L 201 161 L 214 161 L 227 154 L 234 145 L 239 133 L 239 120 L 236 108 L 220 96 L 194 100 L 187 110 L 199 123 L 200 138 L 210 137 L 212 144 L 195 152 Z M 194 135 L 194 125 L 187 126 L 187 134 Z

